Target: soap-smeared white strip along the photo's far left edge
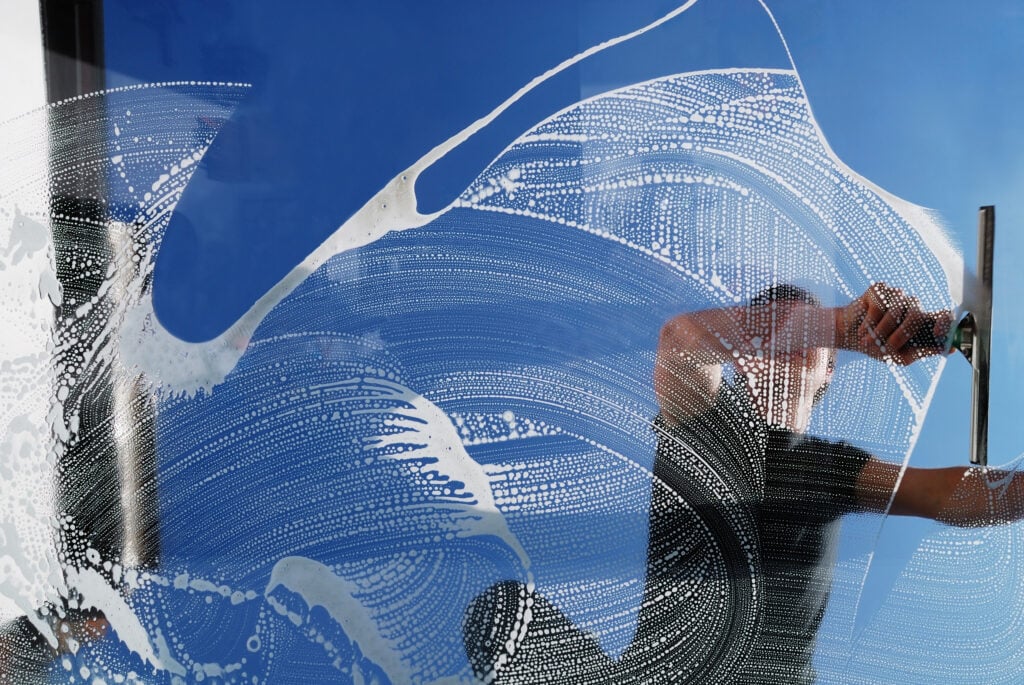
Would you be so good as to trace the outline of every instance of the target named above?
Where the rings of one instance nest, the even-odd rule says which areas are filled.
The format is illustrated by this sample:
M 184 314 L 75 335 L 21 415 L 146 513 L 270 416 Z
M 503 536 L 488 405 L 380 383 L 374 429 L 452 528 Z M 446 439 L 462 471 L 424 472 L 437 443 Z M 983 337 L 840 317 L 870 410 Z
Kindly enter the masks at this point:
M 0 622 L 29 614 L 56 644 L 34 613 L 63 589 L 50 539 L 49 328 L 61 298 L 47 220 L 46 151 L 40 113 L 0 125 Z

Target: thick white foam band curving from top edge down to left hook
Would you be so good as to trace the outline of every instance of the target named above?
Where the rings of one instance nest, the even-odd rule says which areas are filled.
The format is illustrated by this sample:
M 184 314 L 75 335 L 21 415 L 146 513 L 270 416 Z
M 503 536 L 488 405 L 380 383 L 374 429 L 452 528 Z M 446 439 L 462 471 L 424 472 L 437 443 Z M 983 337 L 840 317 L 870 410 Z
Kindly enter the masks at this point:
M 682 14 L 696 2 L 697 0 L 688 0 L 640 29 L 598 43 L 565 59 L 530 80 L 489 114 L 433 147 L 392 178 L 308 257 L 260 297 L 227 331 L 213 340 L 186 343 L 176 338 L 160 324 L 153 309 L 152 296 L 147 295 L 134 307 L 134 311 L 129 312 L 122 331 L 120 348 L 124 361 L 145 373 L 165 391 L 190 394 L 200 388 L 212 389 L 238 363 L 260 322 L 329 258 L 369 245 L 391 231 L 419 228 L 452 209 L 455 201 L 431 214 L 422 214 L 417 210 L 416 180 L 432 164 L 489 125 L 542 83 L 591 55 L 656 29 Z

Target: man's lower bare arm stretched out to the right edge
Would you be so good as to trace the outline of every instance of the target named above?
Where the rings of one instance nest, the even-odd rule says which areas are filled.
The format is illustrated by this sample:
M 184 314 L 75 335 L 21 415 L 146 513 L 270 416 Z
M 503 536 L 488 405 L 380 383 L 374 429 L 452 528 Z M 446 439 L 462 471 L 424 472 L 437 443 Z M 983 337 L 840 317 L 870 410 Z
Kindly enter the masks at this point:
M 918 516 L 950 525 L 1008 523 L 1024 518 L 1024 473 L 978 467 L 923 469 L 868 460 L 857 480 L 857 499 L 869 511 Z M 897 480 L 899 484 L 897 487 Z M 893 488 L 897 487 L 895 496 Z

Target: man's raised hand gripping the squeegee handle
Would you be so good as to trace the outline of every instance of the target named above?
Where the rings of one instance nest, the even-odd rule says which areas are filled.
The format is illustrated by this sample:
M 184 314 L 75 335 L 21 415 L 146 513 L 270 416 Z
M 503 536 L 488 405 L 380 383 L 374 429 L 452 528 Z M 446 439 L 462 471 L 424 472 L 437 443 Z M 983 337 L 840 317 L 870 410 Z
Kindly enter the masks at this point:
M 837 314 L 842 347 L 903 366 L 944 353 L 951 325 L 948 310 L 926 311 L 918 298 L 884 283 L 873 284 Z

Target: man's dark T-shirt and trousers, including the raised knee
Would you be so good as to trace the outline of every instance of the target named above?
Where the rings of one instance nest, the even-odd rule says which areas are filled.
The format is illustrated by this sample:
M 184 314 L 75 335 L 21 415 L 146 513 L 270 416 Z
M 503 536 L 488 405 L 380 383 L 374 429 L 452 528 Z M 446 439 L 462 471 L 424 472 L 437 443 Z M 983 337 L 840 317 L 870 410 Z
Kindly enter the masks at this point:
M 840 517 L 856 509 L 869 456 L 769 427 L 725 386 L 685 424 L 654 422 L 647 576 L 637 631 L 617 661 L 538 594 L 495 586 L 467 611 L 474 670 L 525 636 L 500 683 L 812 683 L 811 659 Z

